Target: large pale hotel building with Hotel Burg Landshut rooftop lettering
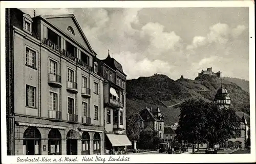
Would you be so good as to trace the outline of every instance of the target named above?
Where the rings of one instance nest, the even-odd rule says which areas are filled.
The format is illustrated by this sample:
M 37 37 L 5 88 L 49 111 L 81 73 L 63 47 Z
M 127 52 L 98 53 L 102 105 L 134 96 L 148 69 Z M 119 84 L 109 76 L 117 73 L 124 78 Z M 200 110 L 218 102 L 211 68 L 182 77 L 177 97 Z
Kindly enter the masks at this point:
M 104 154 L 101 63 L 73 14 L 6 9 L 8 155 Z

